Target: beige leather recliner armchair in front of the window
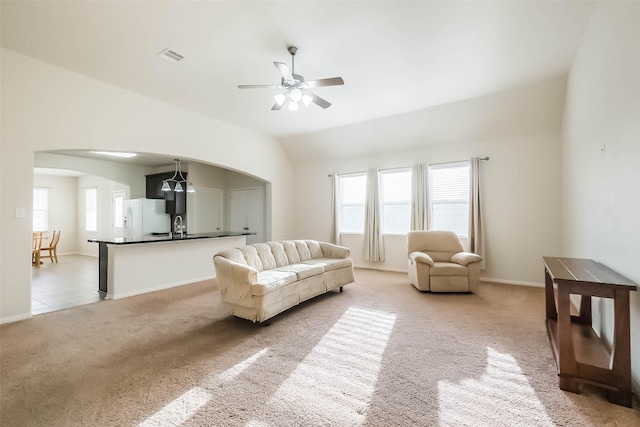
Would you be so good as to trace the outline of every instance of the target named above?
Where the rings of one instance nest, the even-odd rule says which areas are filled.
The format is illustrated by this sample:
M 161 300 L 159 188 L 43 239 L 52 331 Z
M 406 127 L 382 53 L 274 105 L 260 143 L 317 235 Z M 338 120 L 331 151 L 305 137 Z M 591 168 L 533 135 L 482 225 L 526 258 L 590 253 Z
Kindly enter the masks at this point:
M 482 257 L 464 252 L 451 231 L 407 234 L 409 280 L 421 291 L 476 292 Z

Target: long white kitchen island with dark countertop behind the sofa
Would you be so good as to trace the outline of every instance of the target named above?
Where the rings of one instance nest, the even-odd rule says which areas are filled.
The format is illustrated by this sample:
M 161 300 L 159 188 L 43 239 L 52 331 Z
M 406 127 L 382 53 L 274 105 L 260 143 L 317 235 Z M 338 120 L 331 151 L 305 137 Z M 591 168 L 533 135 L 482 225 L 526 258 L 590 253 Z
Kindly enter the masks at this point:
M 125 298 L 215 277 L 213 256 L 246 245 L 250 232 L 89 239 L 99 249 L 98 291 Z

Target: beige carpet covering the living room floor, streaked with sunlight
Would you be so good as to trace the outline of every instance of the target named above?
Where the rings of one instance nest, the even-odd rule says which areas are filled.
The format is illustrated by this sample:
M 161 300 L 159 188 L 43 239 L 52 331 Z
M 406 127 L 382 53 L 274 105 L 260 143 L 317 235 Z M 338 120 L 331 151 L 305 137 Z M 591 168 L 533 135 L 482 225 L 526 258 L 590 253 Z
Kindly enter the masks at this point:
M 215 281 L 0 327 L 2 426 L 639 426 L 557 387 L 543 290 L 357 282 L 273 319 L 225 316 Z

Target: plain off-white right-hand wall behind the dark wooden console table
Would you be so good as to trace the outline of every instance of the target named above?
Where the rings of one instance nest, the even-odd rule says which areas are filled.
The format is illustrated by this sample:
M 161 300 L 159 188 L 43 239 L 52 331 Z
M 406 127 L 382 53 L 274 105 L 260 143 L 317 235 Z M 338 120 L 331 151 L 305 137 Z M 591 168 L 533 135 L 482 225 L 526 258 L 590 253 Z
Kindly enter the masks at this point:
M 563 254 L 593 258 L 640 284 L 640 3 L 600 3 L 571 67 L 563 138 Z M 611 340 L 610 300 L 594 303 Z M 640 292 L 631 293 L 640 391 Z

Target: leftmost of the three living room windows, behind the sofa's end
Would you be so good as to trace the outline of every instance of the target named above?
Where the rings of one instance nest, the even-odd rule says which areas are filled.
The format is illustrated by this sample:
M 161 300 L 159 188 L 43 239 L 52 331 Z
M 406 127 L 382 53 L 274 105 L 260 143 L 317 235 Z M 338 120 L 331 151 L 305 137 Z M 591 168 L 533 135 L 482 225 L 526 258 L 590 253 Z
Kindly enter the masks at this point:
M 338 175 L 338 231 L 364 233 L 367 174 Z

